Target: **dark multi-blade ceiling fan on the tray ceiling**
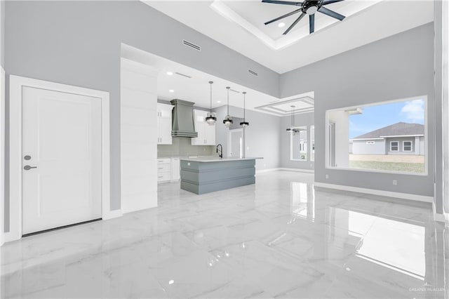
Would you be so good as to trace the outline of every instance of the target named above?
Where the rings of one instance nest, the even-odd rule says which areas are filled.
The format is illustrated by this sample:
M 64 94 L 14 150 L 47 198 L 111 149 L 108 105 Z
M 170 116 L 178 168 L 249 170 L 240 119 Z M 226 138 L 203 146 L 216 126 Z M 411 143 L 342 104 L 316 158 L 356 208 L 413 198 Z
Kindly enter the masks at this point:
M 283 18 L 287 18 L 290 15 L 294 15 L 295 13 L 301 13 L 301 15 L 293 22 L 290 27 L 283 34 L 288 34 L 293 27 L 300 22 L 304 15 L 309 15 L 309 32 L 313 33 L 315 31 L 315 13 L 319 11 L 320 13 L 324 13 L 332 18 L 336 18 L 337 20 L 342 21 L 345 17 L 344 15 L 340 15 L 340 13 L 335 13 L 335 11 L 331 11 L 330 9 L 324 7 L 325 5 L 340 2 L 343 0 L 305 0 L 304 2 L 293 2 L 293 1 L 277 1 L 277 0 L 262 0 L 263 3 L 271 3 L 271 4 L 283 4 L 283 5 L 292 5 L 299 6 L 297 10 L 292 11 L 291 13 L 286 13 L 285 15 L 281 15 L 279 18 L 275 18 L 273 20 L 269 20 L 265 22 L 265 25 L 269 25 L 272 22 L 279 21 Z

